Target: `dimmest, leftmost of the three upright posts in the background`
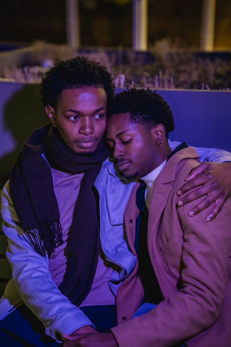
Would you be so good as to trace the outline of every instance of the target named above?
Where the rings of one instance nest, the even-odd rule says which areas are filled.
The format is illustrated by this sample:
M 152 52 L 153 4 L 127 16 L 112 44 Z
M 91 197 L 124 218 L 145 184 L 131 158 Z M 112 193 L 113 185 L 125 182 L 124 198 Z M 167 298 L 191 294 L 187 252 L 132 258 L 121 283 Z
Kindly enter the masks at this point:
M 66 0 L 66 42 L 80 46 L 79 0 Z

